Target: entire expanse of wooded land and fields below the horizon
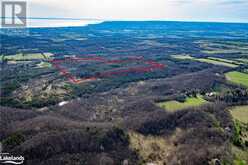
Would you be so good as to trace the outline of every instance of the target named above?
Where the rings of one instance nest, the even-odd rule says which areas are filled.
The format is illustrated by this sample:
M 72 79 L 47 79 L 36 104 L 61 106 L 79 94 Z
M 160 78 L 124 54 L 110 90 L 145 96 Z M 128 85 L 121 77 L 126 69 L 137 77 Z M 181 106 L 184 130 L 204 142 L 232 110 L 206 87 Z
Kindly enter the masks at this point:
M 27 164 L 248 163 L 247 24 L 10 30 L 0 29 L 5 152 Z

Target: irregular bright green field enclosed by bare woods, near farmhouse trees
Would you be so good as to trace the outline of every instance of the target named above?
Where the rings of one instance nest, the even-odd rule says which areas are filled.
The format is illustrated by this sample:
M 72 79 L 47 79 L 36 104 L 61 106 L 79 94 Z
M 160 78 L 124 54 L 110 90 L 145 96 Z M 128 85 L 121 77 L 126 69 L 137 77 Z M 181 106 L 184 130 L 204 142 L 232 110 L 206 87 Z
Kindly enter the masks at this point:
M 202 98 L 202 96 L 197 97 L 188 97 L 185 102 L 178 102 L 178 101 L 167 101 L 163 103 L 159 103 L 158 105 L 161 108 L 164 108 L 168 111 L 175 111 L 175 110 L 181 110 L 189 107 L 197 107 L 201 106 L 203 104 L 206 104 L 207 101 Z

